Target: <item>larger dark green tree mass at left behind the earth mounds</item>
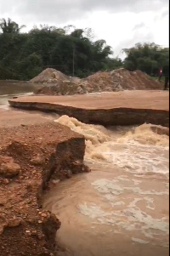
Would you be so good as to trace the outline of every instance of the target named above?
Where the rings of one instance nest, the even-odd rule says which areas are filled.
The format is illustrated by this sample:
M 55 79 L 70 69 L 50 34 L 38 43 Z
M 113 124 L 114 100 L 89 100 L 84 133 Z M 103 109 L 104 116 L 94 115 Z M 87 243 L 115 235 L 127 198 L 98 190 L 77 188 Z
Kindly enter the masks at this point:
M 122 60 L 111 57 L 111 47 L 105 40 L 94 41 L 94 32 L 89 28 L 44 24 L 22 33 L 22 27 L 10 19 L 0 23 L 0 65 L 6 79 L 14 74 L 28 80 L 46 67 L 68 76 L 87 77 L 95 71 L 122 66 Z

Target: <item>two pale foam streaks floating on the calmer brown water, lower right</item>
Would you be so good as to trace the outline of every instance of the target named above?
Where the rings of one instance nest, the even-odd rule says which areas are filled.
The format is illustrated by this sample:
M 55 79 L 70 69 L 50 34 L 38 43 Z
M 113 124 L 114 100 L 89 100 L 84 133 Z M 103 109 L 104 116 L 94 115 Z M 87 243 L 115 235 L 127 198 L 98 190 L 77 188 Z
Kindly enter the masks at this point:
M 144 190 L 135 185 L 135 180 L 128 180 L 126 183 L 125 176 L 116 179 L 97 179 L 92 185 L 105 197 L 106 202 L 110 203 L 112 211 L 86 202 L 78 206 L 80 213 L 96 219 L 99 224 L 113 225 L 115 230 L 121 229 L 122 232 L 139 230 L 143 236 L 150 238 L 157 235 L 168 236 L 168 217 L 156 219 L 138 205 L 143 202 L 145 208 L 154 211 L 156 206 L 152 196 L 168 196 L 169 191 Z M 130 202 L 126 205 L 125 202 L 129 199 Z

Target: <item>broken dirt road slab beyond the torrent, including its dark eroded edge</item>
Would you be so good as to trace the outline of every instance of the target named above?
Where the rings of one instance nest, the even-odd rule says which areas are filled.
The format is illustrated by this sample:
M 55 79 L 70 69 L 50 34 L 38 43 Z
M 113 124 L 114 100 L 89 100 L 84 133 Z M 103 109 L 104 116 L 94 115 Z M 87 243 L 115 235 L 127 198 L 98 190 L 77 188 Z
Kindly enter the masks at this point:
M 31 96 L 9 100 L 9 104 L 28 110 L 53 111 L 87 123 L 133 125 L 150 122 L 169 126 L 169 94 L 164 91 Z

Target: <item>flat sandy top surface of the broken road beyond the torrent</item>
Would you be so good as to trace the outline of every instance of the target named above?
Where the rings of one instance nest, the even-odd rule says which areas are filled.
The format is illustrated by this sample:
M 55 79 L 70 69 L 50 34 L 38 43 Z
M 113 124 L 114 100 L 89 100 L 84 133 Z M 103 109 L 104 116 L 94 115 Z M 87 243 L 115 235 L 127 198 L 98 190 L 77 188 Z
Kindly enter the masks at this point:
M 92 110 L 120 107 L 169 110 L 169 94 L 164 91 L 122 91 L 74 96 L 30 96 L 20 97 L 10 100 L 10 102 L 50 103 Z

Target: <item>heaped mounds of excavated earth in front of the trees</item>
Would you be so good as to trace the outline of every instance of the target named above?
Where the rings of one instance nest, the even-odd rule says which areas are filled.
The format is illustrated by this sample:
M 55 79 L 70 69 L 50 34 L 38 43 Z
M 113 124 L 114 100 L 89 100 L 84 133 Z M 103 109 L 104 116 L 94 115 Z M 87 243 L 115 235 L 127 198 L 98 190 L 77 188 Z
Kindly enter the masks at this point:
M 36 94 L 72 95 L 114 92 L 120 90 L 161 89 L 161 83 L 142 71 L 99 71 L 87 78 L 68 77 L 60 71 L 48 68 L 31 82 L 41 84 Z

